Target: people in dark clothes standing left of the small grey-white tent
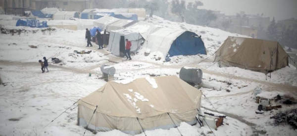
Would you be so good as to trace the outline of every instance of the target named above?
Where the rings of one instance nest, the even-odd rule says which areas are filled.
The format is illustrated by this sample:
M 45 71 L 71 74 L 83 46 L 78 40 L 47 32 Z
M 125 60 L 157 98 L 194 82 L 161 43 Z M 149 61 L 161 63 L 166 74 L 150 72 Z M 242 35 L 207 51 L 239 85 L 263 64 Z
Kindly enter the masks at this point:
M 97 34 L 96 34 L 96 39 L 97 39 L 97 43 L 99 45 L 98 49 L 103 49 L 103 44 L 105 44 L 106 41 L 104 41 L 104 39 L 106 39 L 106 30 L 104 30 L 104 34 L 102 35 L 99 30 L 96 30 Z M 86 39 L 87 39 L 87 46 L 86 47 L 93 47 L 92 43 L 91 43 L 91 32 L 86 29 Z

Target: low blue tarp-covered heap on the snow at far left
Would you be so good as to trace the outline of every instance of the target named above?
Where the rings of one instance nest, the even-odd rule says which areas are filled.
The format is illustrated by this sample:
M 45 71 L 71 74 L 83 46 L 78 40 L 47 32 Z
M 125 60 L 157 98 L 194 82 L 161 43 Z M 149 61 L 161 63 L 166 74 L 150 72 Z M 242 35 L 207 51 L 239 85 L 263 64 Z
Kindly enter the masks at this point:
M 47 21 L 39 22 L 39 20 L 32 20 L 32 19 L 27 19 L 27 20 L 19 19 L 17 20 L 15 26 L 25 26 L 25 27 L 31 27 L 31 28 L 47 28 L 48 22 Z

